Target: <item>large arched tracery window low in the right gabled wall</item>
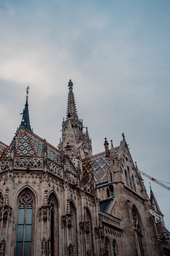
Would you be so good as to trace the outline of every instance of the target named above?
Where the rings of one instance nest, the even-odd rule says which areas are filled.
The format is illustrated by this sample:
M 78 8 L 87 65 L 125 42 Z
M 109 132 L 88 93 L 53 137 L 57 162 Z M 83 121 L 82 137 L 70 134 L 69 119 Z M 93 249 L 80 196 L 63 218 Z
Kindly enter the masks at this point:
M 134 227 L 136 229 L 137 232 L 137 236 L 138 236 L 138 247 L 140 248 L 140 253 L 141 256 L 144 256 L 144 250 L 143 250 L 143 225 L 142 225 L 142 221 L 140 218 L 140 215 L 136 209 L 135 206 L 132 207 L 132 216 L 133 216 L 133 222 L 134 222 Z

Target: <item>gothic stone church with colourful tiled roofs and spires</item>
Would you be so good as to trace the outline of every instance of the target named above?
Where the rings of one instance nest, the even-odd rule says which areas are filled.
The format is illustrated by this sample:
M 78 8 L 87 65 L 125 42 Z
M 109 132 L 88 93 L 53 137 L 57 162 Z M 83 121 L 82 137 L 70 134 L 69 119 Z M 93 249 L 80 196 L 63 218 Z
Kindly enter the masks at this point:
M 0 255 L 170 255 L 164 215 L 124 134 L 120 146 L 109 149 L 105 138 L 104 152 L 93 155 L 71 80 L 68 87 L 57 148 L 31 130 L 29 88 L 11 144 L 0 142 Z

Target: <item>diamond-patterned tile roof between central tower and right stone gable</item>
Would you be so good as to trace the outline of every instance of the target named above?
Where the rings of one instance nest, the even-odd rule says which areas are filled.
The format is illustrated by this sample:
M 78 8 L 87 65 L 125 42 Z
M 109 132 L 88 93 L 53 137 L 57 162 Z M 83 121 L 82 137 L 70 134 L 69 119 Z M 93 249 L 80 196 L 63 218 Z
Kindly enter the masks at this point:
M 116 154 L 119 152 L 119 147 L 115 148 L 115 152 Z M 83 159 L 83 178 L 90 182 L 91 171 L 93 171 L 96 185 L 108 182 L 107 170 L 109 168 L 109 161 L 110 157 L 106 157 L 105 151 Z

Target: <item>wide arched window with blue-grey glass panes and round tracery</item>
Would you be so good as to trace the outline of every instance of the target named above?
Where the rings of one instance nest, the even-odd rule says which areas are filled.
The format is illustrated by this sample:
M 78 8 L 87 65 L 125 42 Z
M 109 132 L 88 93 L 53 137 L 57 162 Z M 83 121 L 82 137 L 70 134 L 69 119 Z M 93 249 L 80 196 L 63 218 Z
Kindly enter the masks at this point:
M 31 255 L 32 211 L 34 207 L 32 194 L 27 190 L 22 192 L 19 195 L 15 256 Z

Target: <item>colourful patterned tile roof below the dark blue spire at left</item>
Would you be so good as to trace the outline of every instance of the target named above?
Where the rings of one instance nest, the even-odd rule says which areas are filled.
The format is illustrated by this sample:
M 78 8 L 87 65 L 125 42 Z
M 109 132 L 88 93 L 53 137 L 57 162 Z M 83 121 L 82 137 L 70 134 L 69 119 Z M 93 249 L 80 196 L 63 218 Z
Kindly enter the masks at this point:
M 13 140 L 12 140 L 13 141 Z M 48 142 L 47 144 L 47 158 L 56 164 L 61 165 L 62 153 Z M 43 139 L 38 137 L 33 132 L 29 131 L 25 127 L 17 131 L 15 135 L 15 145 L 16 145 L 16 155 L 25 156 L 42 156 L 43 149 Z M 7 148 L 4 157 L 10 155 L 10 150 L 12 147 L 12 142 Z M 76 174 L 76 169 L 70 161 L 69 157 L 66 155 L 66 169 L 69 172 Z

